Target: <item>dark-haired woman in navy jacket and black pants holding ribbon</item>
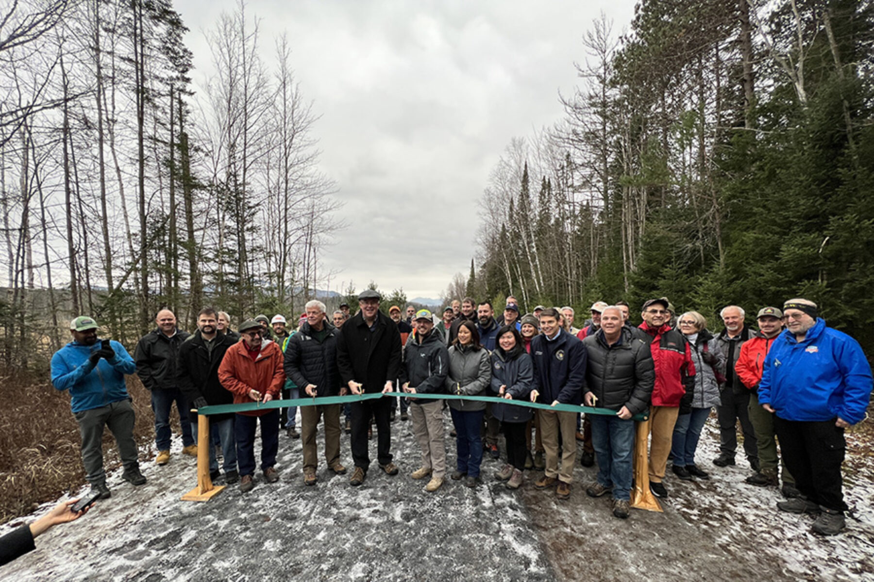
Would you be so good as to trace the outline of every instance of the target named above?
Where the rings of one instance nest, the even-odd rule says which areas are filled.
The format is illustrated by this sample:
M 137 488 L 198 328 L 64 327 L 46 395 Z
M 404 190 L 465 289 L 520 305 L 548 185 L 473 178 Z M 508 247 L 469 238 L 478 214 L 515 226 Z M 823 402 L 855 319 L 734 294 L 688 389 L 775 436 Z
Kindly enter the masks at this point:
M 508 401 L 527 401 L 534 371 L 531 356 L 525 352 L 522 336 L 514 326 L 504 325 L 497 332 L 496 343 L 491 355 L 489 395 L 500 396 Z M 499 481 L 506 481 L 508 489 L 518 489 L 522 485 L 522 471 L 525 468 L 525 428 L 534 414 L 530 407 L 512 404 L 495 404 L 492 414 L 501 421 L 503 435 L 507 439 L 507 464 L 496 472 L 495 477 Z

